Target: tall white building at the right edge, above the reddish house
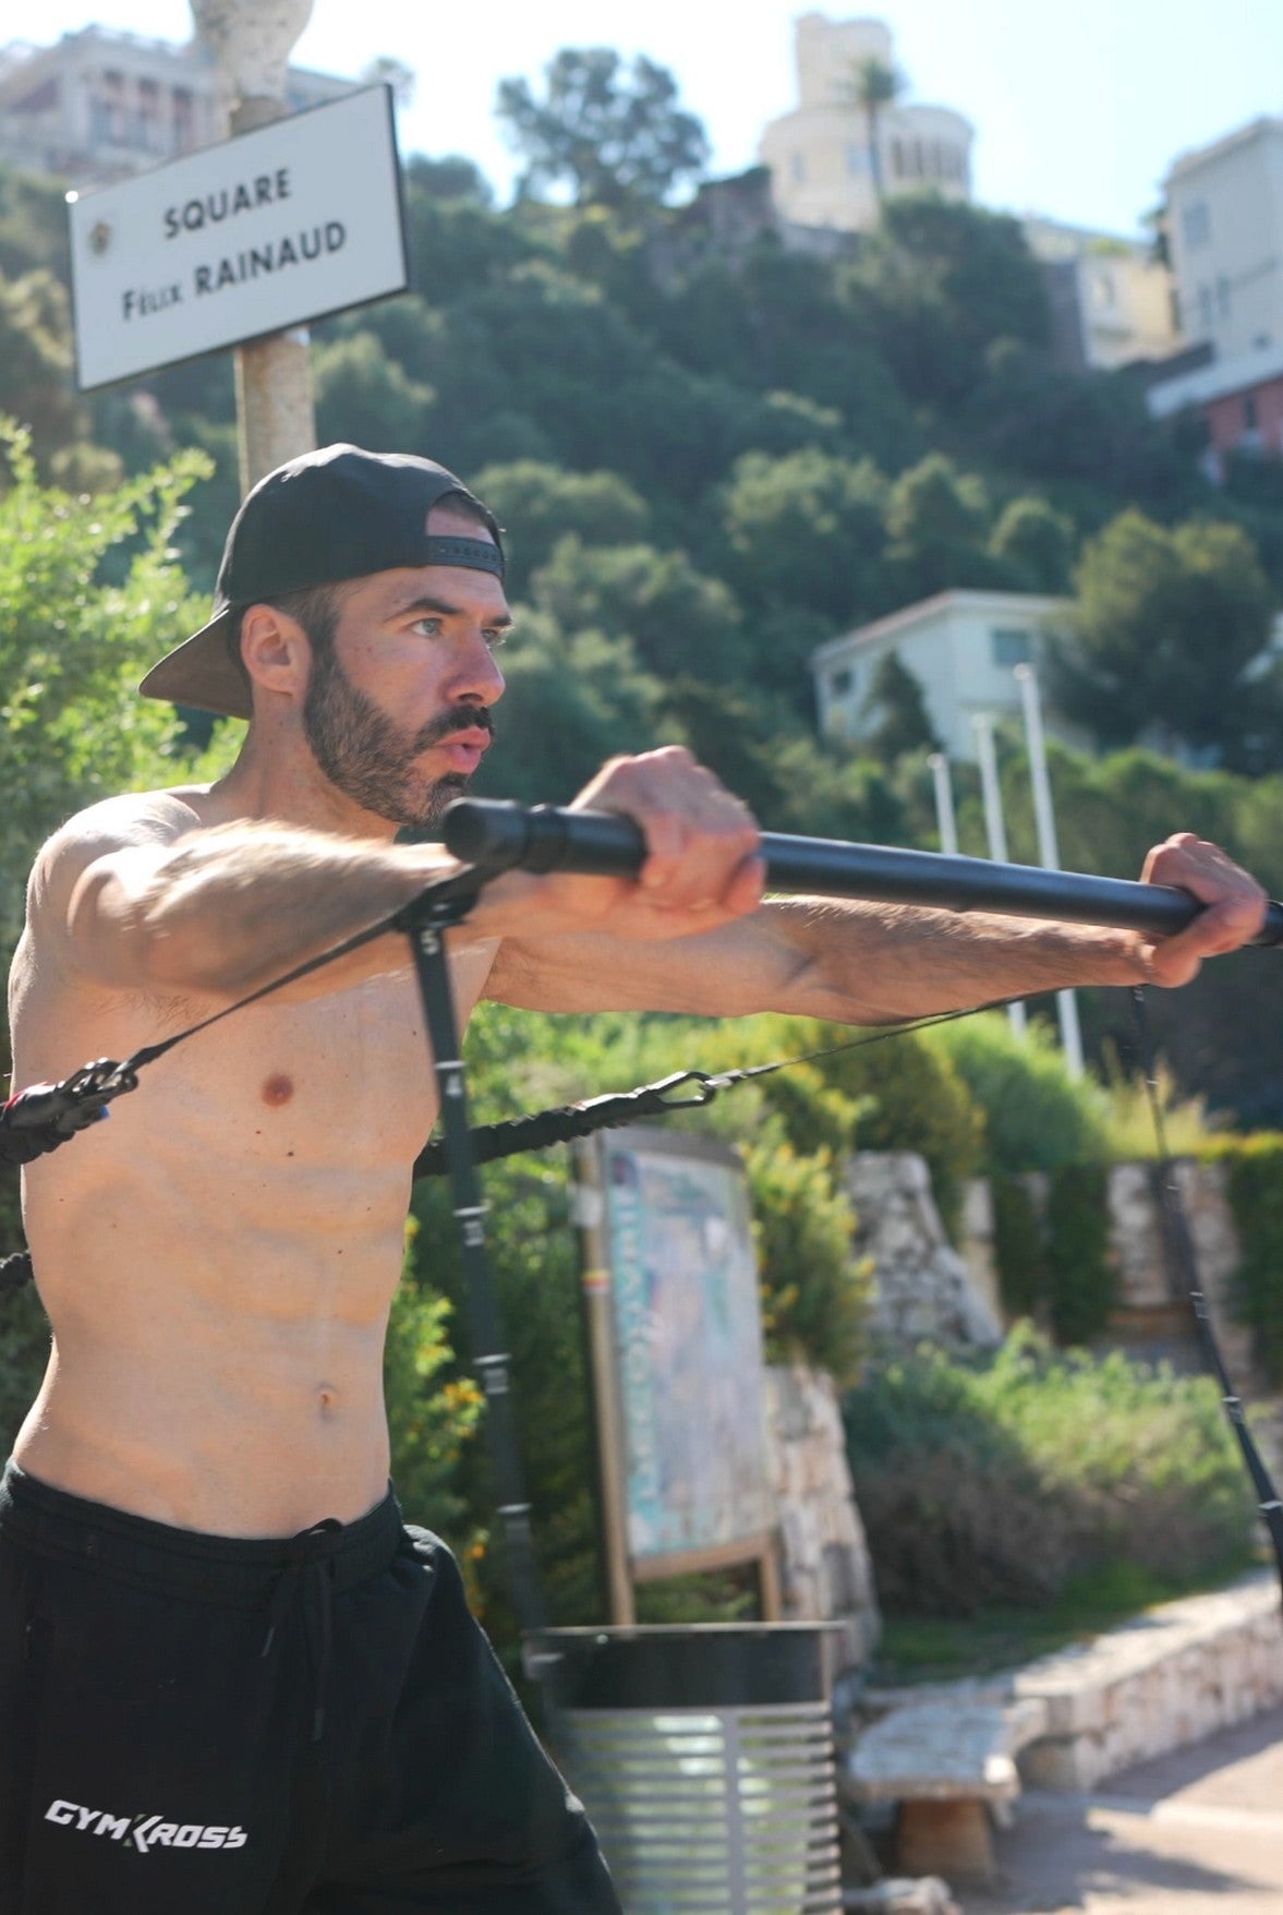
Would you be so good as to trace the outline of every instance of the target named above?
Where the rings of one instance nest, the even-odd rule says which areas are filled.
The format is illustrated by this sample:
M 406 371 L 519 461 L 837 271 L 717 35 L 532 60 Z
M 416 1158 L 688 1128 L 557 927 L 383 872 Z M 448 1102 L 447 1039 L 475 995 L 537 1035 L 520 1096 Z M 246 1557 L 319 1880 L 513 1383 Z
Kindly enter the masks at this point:
M 1283 119 L 1182 153 L 1164 193 L 1185 337 L 1218 360 L 1283 347 Z

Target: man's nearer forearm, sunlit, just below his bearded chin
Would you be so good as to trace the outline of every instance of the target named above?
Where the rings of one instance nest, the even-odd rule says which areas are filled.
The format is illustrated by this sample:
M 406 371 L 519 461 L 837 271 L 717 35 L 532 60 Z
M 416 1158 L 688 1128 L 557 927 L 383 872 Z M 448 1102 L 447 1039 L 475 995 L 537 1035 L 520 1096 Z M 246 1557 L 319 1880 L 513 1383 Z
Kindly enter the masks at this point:
M 442 858 L 283 825 L 224 825 L 96 860 L 77 883 L 73 956 L 124 988 L 232 996 L 341 944 L 408 904 Z M 326 988 L 406 961 L 381 940 Z

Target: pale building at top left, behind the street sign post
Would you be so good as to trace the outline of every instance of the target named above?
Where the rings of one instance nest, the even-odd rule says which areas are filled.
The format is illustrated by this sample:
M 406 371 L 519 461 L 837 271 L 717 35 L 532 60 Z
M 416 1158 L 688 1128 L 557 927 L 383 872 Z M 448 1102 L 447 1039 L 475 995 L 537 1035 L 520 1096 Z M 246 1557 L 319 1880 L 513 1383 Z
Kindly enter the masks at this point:
M 291 113 L 350 92 L 350 80 L 289 69 Z M 115 27 L 54 46 L 0 48 L 0 159 L 71 186 L 101 186 L 224 138 L 213 56 Z

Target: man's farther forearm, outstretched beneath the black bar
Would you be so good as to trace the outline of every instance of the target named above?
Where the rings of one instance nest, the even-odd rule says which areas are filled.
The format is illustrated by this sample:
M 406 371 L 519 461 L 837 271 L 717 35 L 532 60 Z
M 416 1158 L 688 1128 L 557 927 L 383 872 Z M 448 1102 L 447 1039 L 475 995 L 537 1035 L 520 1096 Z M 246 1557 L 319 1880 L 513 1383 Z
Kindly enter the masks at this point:
M 1136 936 L 1095 925 L 823 898 L 776 898 L 764 915 L 781 961 L 756 1009 L 879 1025 L 1147 977 Z

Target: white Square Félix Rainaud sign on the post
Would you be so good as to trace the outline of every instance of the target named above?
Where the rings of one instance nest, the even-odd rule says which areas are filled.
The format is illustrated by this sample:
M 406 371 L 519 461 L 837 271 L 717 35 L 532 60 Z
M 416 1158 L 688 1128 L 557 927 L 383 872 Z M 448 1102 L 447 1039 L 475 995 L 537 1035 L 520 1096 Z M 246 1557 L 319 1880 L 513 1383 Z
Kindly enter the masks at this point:
M 387 86 L 69 199 L 82 391 L 410 283 Z

